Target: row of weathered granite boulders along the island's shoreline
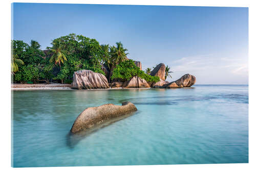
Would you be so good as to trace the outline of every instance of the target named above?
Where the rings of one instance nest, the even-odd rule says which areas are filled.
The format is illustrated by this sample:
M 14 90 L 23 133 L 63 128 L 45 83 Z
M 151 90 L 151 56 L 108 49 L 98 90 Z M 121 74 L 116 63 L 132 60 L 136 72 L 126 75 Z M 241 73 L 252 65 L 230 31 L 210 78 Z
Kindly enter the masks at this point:
M 136 66 L 141 67 L 140 61 L 134 62 Z M 91 70 L 79 70 L 75 71 L 73 75 L 73 83 L 71 88 L 73 89 L 106 89 L 106 88 L 182 88 L 190 87 L 196 83 L 196 77 L 186 74 L 180 79 L 174 82 L 165 81 L 165 65 L 163 63 L 158 64 L 152 71 L 151 76 L 158 76 L 160 78 L 159 82 L 151 83 L 140 77 L 132 77 L 126 82 L 112 82 L 109 83 L 108 80 L 110 76 L 109 69 L 103 65 L 103 71 L 105 75 L 93 72 Z

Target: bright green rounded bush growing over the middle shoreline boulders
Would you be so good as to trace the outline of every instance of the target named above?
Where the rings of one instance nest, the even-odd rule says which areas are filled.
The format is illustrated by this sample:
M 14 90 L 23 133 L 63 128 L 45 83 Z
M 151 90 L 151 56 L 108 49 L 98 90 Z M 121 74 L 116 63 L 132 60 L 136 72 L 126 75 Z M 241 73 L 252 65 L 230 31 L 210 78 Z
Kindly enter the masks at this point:
M 145 79 L 147 82 L 160 81 L 159 77 L 145 74 L 144 71 L 140 70 L 140 68 L 135 65 L 133 60 L 126 60 L 118 64 L 113 70 L 111 79 L 121 79 L 122 81 L 127 81 L 134 76 Z

